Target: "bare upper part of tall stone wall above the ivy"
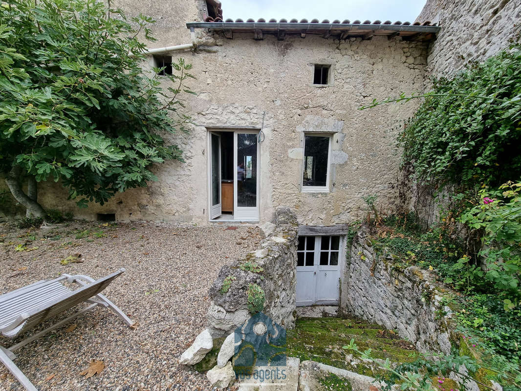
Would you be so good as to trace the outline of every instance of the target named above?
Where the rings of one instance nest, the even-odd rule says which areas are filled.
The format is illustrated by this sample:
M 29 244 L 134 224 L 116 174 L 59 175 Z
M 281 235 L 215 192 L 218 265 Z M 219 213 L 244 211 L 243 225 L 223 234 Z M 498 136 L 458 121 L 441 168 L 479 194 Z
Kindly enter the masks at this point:
M 427 0 L 416 19 L 442 27 L 432 43 L 428 70 L 448 76 L 470 60 L 482 61 L 521 34 L 519 0 Z

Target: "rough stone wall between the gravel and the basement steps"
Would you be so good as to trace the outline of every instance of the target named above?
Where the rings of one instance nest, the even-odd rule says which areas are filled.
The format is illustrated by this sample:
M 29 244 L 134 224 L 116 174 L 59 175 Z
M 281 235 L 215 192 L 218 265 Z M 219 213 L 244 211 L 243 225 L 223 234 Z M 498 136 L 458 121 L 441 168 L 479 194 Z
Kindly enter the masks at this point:
M 208 295 L 208 329 L 214 338 L 227 336 L 252 315 L 251 300 L 259 296 L 264 303 L 257 310 L 285 328 L 294 326 L 296 288 L 296 216 L 288 207 L 276 211 L 276 226 L 260 248 L 244 259 L 221 268 Z

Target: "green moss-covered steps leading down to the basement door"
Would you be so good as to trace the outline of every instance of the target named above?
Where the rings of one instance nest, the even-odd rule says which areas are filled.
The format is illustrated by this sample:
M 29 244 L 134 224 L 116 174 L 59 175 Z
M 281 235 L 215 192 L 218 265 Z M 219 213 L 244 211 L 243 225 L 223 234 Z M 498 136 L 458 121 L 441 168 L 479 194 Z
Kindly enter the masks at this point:
M 337 368 L 375 377 L 386 374 L 376 364 L 351 363 L 342 346 L 354 339 L 360 350 L 372 349 L 371 356 L 391 362 L 412 362 L 417 352 L 410 343 L 377 324 L 359 319 L 300 318 L 288 331 L 287 355 L 301 361 L 313 360 Z M 358 358 L 355 358 L 358 360 Z

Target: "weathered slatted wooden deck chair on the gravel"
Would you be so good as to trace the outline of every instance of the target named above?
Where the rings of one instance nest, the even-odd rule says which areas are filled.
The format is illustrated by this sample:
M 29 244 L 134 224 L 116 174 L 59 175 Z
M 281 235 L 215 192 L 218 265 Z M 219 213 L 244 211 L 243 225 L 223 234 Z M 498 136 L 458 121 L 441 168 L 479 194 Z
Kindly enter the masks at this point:
M 13 362 L 13 360 L 16 359 L 16 355 L 14 354 L 16 350 L 69 322 L 76 316 L 94 309 L 96 306 L 110 308 L 121 317 L 127 325 L 132 326 L 134 322 L 116 307 L 113 302 L 101 294 L 101 291 L 123 272 L 125 272 L 125 269 L 121 268 L 117 272 L 98 280 L 84 275 L 71 276 L 69 274 L 63 274 L 61 277 L 52 280 L 42 280 L 0 296 L 0 333 L 9 338 L 17 337 L 82 302 L 91 303 L 90 306 L 35 333 L 16 345 L 9 348 L 0 346 L 0 362 L 7 367 L 28 391 L 38 391 Z M 62 284 L 62 282 L 65 281 L 68 283 L 76 283 L 80 285 L 81 288 L 70 290 Z

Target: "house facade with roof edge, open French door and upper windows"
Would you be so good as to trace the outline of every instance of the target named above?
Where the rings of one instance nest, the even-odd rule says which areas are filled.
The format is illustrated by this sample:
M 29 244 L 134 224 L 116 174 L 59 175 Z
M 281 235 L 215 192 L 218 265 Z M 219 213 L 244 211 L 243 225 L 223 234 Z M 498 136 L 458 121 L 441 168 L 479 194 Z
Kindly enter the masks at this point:
M 114 4 L 129 15 L 143 13 L 158 21 L 154 47 L 194 44 L 151 55 L 144 64 L 151 69 L 165 57 L 183 57 L 193 65 L 196 80 L 189 85 L 197 96 L 189 97 L 187 107 L 194 125 L 188 135 L 172 139 L 186 163 L 162 164 L 156 168 L 159 180 L 146 189 L 75 210 L 76 215 L 208 224 L 217 215 L 212 213 L 212 181 L 219 182 L 222 192 L 221 221 L 269 222 L 275 208 L 284 205 L 296 210 L 302 225 L 345 224 L 364 215 L 362 197 L 371 194 L 378 194 L 382 210 L 395 210 L 400 156 L 395 136 L 417 102 L 365 111 L 359 107 L 375 98 L 423 91 L 427 48 L 439 27 L 380 21 L 204 22 L 215 4 Z M 327 80 L 315 82 L 317 67 Z M 168 83 L 165 78 L 165 87 Z M 210 162 L 212 134 L 221 139 L 220 161 L 214 162 L 221 166 L 218 178 L 219 169 L 212 170 Z M 251 136 L 241 136 L 246 134 Z M 235 143 L 256 139 L 257 150 L 234 156 L 238 146 L 233 138 Z M 253 164 L 253 172 L 245 167 L 248 178 L 233 182 L 240 165 L 235 160 L 243 158 L 249 159 L 244 164 Z M 234 200 L 225 207 L 229 181 Z M 45 207 L 68 207 L 65 197 L 56 197 L 59 191 L 56 185 L 40 192 Z

